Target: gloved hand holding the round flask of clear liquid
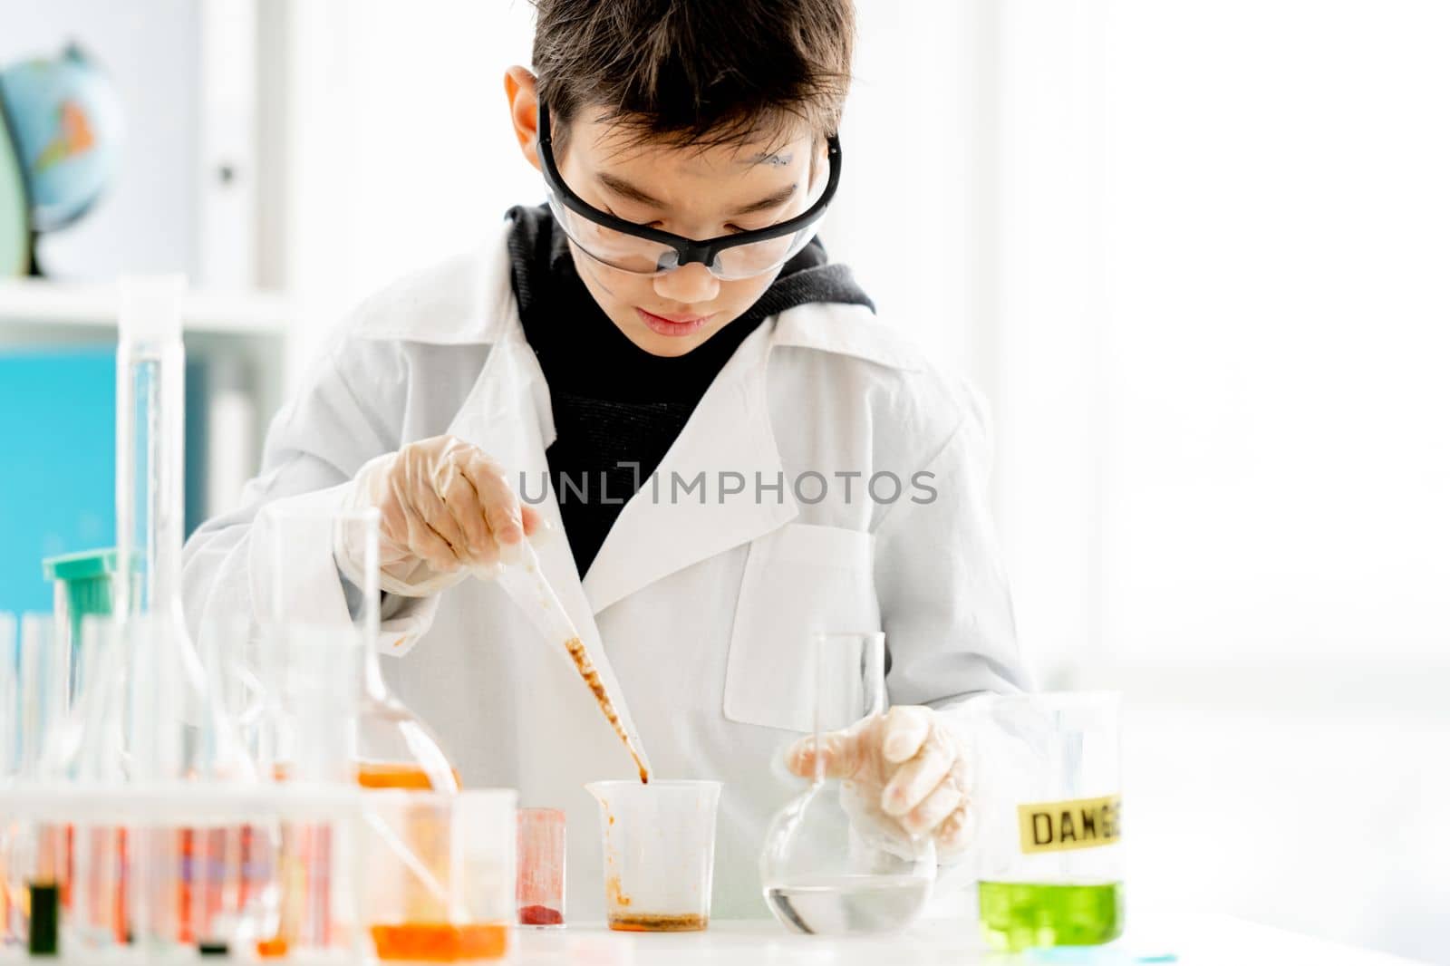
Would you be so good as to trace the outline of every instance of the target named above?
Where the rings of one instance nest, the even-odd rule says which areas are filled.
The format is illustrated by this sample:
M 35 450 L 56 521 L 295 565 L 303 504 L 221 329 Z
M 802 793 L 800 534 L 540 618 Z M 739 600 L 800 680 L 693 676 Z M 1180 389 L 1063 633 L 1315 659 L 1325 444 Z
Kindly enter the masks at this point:
M 815 738 L 786 751 L 786 767 L 813 777 Z M 905 840 L 931 835 L 942 860 L 967 847 L 966 747 L 931 708 L 899 706 L 845 731 L 821 735 L 825 777 L 841 780 L 841 798 L 857 831 L 873 846 L 909 854 Z

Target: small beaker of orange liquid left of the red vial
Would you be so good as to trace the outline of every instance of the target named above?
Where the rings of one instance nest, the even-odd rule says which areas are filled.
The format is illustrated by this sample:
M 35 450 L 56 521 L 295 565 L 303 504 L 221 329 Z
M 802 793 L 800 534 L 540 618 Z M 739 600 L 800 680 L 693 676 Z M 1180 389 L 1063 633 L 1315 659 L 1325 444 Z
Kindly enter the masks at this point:
M 512 789 L 362 796 L 360 891 L 380 960 L 503 959 L 513 931 Z

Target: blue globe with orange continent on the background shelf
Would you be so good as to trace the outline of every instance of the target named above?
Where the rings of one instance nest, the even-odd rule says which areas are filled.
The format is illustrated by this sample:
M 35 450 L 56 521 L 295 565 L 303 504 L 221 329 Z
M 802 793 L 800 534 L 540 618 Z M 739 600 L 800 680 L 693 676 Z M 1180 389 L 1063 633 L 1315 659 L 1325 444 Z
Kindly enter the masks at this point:
M 54 59 L 0 70 L 0 106 L 30 202 L 30 225 L 51 232 L 81 218 L 115 178 L 120 99 L 74 44 Z

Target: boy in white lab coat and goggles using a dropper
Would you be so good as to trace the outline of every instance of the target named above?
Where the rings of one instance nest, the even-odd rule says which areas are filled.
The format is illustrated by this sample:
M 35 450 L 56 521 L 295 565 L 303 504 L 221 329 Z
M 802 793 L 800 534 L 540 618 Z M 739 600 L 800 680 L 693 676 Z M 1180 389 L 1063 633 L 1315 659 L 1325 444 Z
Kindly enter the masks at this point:
M 811 632 L 883 629 L 895 708 L 837 735 L 828 769 L 856 779 L 861 820 L 951 862 L 973 814 L 956 708 L 1022 672 L 979 409 L 813 239 L 841 171 L 850 0 L 536 7 L 538 75 L 505 87 L 548 205 L 347 322 L 245 506 L 191 540 L 188 614 L 267 586 L 267 513 L 377 508 L 390 683 L 464 785 L 568 809 L 586 917 L 581 786 L 632 769 L 486 579 L 521 540 L 655 772 L 725 783 L 718 915 L 764 911 L 764 825 L 795 790 L 770 761 L 811 728 Z M 306 599 L 345 609 L 348 548 L 294 544 Z M 808 775 L 806 748 L 789 764 Z

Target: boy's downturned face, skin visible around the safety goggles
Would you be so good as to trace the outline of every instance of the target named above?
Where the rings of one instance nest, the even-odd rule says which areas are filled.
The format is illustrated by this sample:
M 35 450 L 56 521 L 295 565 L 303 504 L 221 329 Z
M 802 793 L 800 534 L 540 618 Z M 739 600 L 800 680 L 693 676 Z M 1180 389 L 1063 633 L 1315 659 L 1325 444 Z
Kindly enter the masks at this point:
M 518 99 L 512 100 L 518 128 L 521 112 Z M 525 142 L 523 131 L 519 141 Z M 573 122 L 555 161 L 564 183 L 594 207 L 705 239 L 766 228 L 806 210 L 815 187 L 812 173 L 824 178 L 826 170 L 824 144 L 815 148 L 819 157 L 812 164 L 812 141 L 808 131 L 793 131 L 768 144 L 761 139 L 703 149 L 631 144 L 628 132 L 592 120 L 586 110 Z M 525 154 L 538 167 L 528 144 Z M 703 345 L 754 305 L 780 274 L 777 268 L 721 281 L 705 265 L 690 264 L 647 277 L 605 265 L 573 242 L 570 251 L 605 315 L 631 342 L 654 355 L 684 355 Z

